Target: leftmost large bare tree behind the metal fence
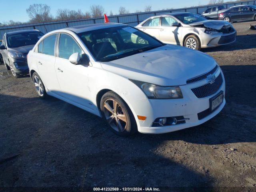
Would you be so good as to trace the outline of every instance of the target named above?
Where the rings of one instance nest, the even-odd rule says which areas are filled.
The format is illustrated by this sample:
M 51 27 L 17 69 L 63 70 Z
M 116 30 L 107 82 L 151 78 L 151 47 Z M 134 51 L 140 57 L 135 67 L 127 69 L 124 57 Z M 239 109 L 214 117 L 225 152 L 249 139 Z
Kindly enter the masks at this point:
M 31 22 L 48 22 L 52 20 L 50 10 L 46 4 L 32 4 L 26 11 Z

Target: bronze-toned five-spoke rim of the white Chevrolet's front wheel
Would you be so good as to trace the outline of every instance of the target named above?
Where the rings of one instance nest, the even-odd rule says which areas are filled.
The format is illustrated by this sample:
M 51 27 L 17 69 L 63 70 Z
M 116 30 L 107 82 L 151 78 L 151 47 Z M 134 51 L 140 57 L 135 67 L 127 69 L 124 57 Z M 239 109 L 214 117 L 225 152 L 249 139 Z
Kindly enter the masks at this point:
M 117 132 L 124 132 L 127 126 L 127 119 L 121 106 L 114 99 L 107 99 L 104 102 L 104 114 L 108 124 Z

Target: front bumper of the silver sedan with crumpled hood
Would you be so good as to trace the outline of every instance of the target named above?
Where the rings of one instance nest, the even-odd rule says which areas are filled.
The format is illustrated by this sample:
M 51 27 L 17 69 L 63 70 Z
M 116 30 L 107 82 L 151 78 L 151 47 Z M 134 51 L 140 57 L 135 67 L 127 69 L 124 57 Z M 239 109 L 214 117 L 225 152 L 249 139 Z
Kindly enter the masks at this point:
M 230 44 L 236 41 L 236 31 L 232 33 L 218 33 L 214 35 L 202 33 L 201 38 L 201 48 L 210 48 L 220 45 Z M 226 40 L 225 40 L 226 39 Z

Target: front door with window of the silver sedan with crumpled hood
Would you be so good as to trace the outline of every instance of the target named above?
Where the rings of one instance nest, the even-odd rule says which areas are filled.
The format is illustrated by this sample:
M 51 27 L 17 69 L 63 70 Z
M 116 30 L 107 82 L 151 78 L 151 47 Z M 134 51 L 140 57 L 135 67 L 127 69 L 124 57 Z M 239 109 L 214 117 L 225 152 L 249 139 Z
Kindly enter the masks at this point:
M 178 21 L 170 16 L 161 18 L 161 27 L 159 30 L 160 41 L 175 45 L 182 44 L 182 27 L 172 26 L 175 22 Z

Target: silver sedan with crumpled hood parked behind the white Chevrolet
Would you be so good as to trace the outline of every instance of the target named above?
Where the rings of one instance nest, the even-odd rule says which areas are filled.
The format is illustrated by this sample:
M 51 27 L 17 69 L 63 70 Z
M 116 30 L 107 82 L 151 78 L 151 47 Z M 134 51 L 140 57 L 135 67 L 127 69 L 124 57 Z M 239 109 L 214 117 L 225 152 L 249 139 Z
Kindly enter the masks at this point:
M 195 50 L 236 41 L 236 30 L 229 22 L 207 20 L 203 16 L 187 12 L 153 16 L 140 23 L 136 28 L 164 43 Z M 136 36 L 133 37 L 133 42 L 147 43 Z

